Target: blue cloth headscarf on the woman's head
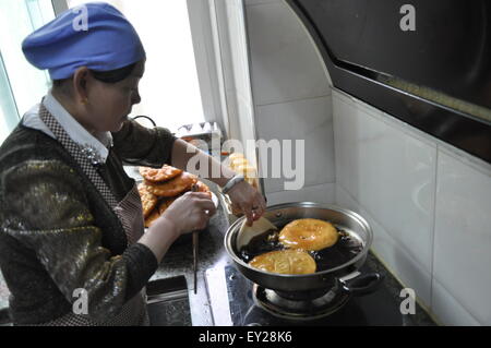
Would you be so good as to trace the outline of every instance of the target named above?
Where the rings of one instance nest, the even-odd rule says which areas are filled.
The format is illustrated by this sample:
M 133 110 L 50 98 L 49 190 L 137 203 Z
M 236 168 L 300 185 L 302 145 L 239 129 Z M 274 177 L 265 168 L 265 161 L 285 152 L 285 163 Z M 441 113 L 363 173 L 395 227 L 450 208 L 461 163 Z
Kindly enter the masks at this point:
M 71 77 L 80 67 L 110 71 L 145 59 L 134 27 L 105 2 L 85 3 L 59 15 L 27 36 L 22 49 L 52 80 Z

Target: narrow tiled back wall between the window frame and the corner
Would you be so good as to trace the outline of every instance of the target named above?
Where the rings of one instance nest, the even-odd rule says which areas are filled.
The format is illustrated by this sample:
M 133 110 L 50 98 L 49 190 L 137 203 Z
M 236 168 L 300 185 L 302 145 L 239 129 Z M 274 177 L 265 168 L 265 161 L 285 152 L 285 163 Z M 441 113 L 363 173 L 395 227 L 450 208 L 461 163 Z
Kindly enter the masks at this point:
M 334 134 L 331 87 L 324 64 L 301 23 L 280 0 L 246 0 L 246 21 L 258 139 L 304 140 L 304 187 L 264 179 L 268 204 L 292 201 L 333 203 L 335 197 Z M 296 147 L 292 147 L 291 154 Z M 322 151 L 319 151 L 322 149 Z M 261 163 L 272 164 L 270 158 Z M 299 163 L 294 156 L 292 168 Z M 283 164 L 282 164 L 283 165 Z M 263 172 L 264 175 L 264 172 Z

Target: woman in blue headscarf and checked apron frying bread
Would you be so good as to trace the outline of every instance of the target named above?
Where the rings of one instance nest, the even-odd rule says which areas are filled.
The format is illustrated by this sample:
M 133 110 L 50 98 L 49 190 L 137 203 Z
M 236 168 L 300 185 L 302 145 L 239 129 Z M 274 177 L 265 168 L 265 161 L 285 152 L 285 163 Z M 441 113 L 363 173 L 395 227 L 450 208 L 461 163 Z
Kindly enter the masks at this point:
M 139 104 L 145 51 L 127 19 L 86 4 L 87 31 L 68 11 L 23 43 L 53 87 L 0 147 L 0 267 L 21 325 L 147 323 L 144 287 L 170 244 L 206 226 L 215 206 L 204 193 L 176 200 L 143 233 L 142 204 L 123 161 L 187 169 L 192 156 L 248 217 L 262 195 L 240 177 L 163 128 L 128 120 Z M 83 292 L 77 292 L 80 290 Z M 87 313 L 72 310 L 84 293 Z

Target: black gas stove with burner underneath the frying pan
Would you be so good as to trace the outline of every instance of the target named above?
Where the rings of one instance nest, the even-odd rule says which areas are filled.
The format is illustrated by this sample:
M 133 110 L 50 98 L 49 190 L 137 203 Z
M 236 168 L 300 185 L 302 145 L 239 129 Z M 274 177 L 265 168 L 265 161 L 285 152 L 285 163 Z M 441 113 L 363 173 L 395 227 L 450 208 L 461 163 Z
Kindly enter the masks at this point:
M 233 326 L 414 326 L 434 325 L 416 304 L 415 314 L 403 314 L 400 285 L 369 257 L 362 273 L 384 276 L 372 293 L 354 296 L 327 291 L 309 299 L 288 299 L 247 279 L 233 265 L 205 272 L 215 325 Z M 370 266 L 372 265 L 372 267 Z M 310 313 L 310 314 L 308 314 Z

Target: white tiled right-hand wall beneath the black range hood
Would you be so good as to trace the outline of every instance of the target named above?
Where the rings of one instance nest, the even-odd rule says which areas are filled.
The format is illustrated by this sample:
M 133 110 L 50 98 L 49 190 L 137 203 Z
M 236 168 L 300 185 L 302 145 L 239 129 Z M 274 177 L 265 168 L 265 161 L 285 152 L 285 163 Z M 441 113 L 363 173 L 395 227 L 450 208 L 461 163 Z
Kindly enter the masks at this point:
M 333 91 L 336 203 L 446 325 L 491 325 L 491 166 Z

